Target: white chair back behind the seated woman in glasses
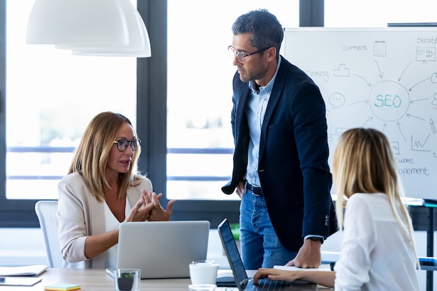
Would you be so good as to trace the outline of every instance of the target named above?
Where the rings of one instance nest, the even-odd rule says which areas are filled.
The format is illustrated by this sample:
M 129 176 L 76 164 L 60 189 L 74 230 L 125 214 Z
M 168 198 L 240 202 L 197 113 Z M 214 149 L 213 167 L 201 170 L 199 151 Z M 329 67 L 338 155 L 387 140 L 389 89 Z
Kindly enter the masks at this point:
M 35 204 L 35 212 L 43 231 L 47 262 L 50 268 L 62 267 L 62 254 L 58 241 L 57 200 L 40 200 Z

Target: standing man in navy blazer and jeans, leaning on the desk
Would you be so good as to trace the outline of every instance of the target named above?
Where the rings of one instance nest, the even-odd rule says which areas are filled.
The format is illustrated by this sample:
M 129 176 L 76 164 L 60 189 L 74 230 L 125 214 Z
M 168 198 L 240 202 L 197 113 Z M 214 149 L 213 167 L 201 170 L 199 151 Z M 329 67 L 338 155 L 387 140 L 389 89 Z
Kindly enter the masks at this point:
M 235 152 L 222 191 L 236 188 L 241 198 L 244 267 L 318 267 L 323 240 L 337 230 L 325 103 L 311 78 L 279 55 L 283 28 L 274 15 L 250 11 L 232 33 Z

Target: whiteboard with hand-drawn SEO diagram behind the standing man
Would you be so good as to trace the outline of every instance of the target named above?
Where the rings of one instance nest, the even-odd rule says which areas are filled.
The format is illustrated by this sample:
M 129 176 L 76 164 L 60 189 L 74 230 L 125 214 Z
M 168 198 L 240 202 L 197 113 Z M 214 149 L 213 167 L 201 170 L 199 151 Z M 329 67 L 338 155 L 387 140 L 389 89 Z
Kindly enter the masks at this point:
M 392 143 L 406 196 L 437 199 L 436 47 L 435 27 L 285 29 L 281 54 L 325 100 L 331 167 L 341 133 L 376 128 Z

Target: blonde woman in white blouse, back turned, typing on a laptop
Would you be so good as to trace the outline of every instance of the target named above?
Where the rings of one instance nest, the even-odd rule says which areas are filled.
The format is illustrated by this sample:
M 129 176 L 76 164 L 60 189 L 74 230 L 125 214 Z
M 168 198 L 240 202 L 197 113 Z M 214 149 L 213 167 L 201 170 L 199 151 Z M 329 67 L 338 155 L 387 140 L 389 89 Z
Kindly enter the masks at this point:
M 344 226 L 334 271 L 259 269 L 255 281 L 299 279 L 338 291 L 420 290 L 413 225 L 387 137 L 372 128 L 347 130 L 334 150 L 332 171 L 337 219 Z

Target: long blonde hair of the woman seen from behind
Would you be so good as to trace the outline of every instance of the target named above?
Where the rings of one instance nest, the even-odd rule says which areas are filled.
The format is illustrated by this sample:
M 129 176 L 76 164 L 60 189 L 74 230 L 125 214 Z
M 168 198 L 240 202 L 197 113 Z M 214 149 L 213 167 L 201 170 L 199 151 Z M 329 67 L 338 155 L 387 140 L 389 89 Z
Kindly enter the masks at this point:
M 385 193 L 394 216 L 413 245 L 410 216 L 403 203 L 403 188 L 387 137 L 373 128 L 352 128 L 341 135 L 332 161 L 336 189 L 336 214 L 339 229 L 343 225 L 343 205 L 354 193 Z M 400 209 L 401 216 L 397 209 Z

